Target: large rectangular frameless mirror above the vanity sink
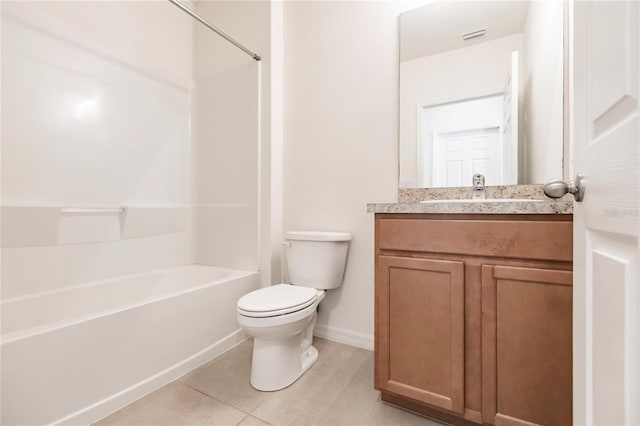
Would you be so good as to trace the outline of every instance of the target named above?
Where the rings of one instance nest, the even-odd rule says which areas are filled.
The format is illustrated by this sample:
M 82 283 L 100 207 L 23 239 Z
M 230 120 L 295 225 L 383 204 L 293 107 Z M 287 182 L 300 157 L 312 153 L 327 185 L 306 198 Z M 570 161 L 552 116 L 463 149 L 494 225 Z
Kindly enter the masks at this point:
M 564 2 L 438 1 L 400 15 L 400 187 L 563 177 Z

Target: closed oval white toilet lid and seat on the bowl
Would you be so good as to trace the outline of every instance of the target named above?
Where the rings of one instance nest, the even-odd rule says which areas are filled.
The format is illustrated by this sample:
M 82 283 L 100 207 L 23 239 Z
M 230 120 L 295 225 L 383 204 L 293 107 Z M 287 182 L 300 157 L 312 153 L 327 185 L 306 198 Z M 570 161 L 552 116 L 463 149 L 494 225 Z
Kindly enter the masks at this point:
M 238 300 L 238 311 L 255 317 L 284 315 L 306 308 L 317 296 L 314 288 L 277 284 L 242 296 Z

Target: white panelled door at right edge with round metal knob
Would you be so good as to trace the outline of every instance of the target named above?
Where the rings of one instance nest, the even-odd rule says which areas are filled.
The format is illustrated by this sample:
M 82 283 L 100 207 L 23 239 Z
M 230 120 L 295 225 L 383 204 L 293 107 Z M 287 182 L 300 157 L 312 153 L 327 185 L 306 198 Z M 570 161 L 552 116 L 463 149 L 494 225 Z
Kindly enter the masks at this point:
M 640 424 L 640 128 L 636 1 L 575 1 L 574 422 Z

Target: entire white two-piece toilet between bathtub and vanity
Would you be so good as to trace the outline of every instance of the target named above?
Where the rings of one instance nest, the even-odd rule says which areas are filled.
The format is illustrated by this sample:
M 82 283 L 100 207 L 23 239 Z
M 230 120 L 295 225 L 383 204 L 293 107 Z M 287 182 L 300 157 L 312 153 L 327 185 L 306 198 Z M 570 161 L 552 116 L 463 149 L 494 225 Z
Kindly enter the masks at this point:
M 254 337 L 251 385 L 286 388 L 318 359 L 311 346 L 318 304 L 325 290 L 342 285 L 351 234 L 286 232 L 291 284 L 276 284 L 238 300 L 238 324 Z

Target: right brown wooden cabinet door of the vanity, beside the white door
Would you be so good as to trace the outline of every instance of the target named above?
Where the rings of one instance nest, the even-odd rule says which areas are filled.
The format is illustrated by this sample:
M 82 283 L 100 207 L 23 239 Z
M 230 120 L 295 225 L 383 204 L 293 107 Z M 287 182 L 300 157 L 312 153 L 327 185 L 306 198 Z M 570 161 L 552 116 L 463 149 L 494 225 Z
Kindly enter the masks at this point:
M 572 424 L 572 273 L 482 267 L 482 419 Z

